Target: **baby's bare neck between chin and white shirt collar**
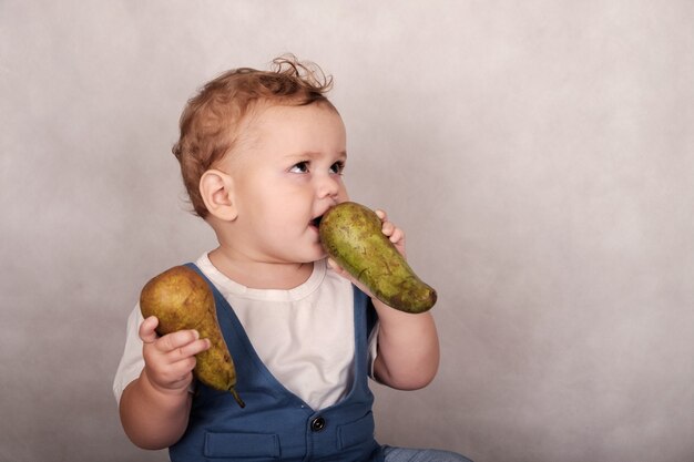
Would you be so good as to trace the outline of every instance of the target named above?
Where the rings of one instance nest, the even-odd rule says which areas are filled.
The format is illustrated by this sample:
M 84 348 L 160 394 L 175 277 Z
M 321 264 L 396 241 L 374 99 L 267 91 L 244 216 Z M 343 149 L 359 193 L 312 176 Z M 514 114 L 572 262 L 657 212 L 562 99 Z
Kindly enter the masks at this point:
M 314 269 L 313 263 L 239 260 L 222 247 L 212 250 L 208 257 L 224 276 L 252 289 L 289 290 L 306 283 Z

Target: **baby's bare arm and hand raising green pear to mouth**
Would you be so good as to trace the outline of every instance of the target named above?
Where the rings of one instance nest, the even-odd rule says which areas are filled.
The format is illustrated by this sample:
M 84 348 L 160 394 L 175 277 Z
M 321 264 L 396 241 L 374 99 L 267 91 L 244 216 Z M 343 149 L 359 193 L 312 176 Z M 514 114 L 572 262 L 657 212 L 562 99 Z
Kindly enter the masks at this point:
M 405 256 L 405 234 L 385 212 L 376 211 L 381 230 Z M 330 266 L 350 279 L 366 294 L 361 284 L 330 260 Z M 439 338 L 430 312 L 409 314 L 391 308 L 371 296 L 378 312 L 378 353 L 374 362 L 375 378 L 400 390 L 417 390 L 433 380 L 439 368 Z

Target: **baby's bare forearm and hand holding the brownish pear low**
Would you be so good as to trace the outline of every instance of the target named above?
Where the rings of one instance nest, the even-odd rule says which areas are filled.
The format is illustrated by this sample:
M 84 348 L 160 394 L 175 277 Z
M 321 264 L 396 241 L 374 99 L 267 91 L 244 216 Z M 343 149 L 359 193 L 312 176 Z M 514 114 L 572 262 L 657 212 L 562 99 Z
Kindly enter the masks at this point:
M 174 444 L 187 427 L 195 355 L 210 348 L 194 330 L 157 337 L 155 317 L 140 326 L 145 367 L 120 402 L 121 423 L 131 441 L 143 449 Z

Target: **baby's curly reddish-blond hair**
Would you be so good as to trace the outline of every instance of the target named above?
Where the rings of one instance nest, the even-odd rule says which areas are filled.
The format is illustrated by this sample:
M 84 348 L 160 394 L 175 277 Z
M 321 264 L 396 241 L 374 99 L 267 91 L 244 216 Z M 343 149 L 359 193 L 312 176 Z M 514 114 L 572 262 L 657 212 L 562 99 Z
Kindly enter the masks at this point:
M 207 82 L 181 114 L 181 136 L 172 152 L 181 164 L 183 184 L 195 215 L 208 211 L 200 178 L 238 143 L 243 122 L 258 103 L 307 105 L 317 102 L 335 110 L 326 97 L 333 78 L 312 62 L 288 54 L 273 60 L 269 71 L 239 68 Z

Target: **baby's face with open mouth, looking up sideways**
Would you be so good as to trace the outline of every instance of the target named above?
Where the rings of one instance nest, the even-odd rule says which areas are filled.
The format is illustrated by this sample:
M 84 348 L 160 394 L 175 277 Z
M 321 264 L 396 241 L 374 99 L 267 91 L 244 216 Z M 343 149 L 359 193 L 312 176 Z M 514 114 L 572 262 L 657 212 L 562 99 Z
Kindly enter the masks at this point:
M 320 104 L 269 106 L 252 120 L 243 145 L 229 165 L 238 211 L 235 236 L 242 239 L 236 244 L 255 260 L 325 257 L 316 218 L 348 199 L 339 114 Z

